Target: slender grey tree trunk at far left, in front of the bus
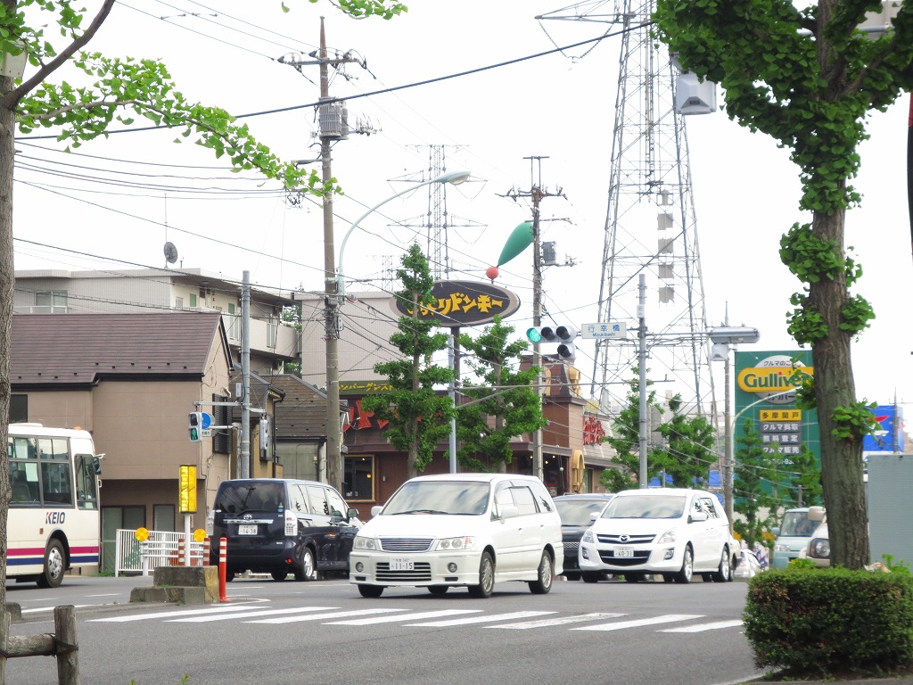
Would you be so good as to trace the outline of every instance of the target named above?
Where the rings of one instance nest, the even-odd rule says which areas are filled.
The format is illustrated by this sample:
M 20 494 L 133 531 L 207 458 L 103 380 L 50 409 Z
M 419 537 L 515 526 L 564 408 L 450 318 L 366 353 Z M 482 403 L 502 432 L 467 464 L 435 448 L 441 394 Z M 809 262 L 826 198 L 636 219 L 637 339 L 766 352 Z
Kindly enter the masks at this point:
M 8 2 L 4 3 L 9 5 Z M 15 6 L 15 5 L 14 5 Z M 7 11 L 9 11 L 7 9 Z M 0 91 L 13 90 L 13 79 L 0 77 Z M 16 155 L 16 112 L 0 107 L 0 444 L 9 435 L 13 293 L 13 158 Z M 6 605 L 6 514 L 10 500 L 9 460 L 0 458 L 0 607 Z

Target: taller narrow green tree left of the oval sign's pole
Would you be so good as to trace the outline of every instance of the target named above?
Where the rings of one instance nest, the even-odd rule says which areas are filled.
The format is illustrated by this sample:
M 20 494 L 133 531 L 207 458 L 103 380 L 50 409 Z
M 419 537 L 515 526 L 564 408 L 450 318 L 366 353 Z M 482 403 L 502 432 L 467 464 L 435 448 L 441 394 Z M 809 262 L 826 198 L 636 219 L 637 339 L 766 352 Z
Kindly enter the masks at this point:
M 383 435 L 394 448 L 408 453 L 407 475 L 413 478 L 431 462 L 438 443 L 450 432 L 453 405 L 435 386 L 450 383 L 454 372 L 430 363 L 434 353 L 446 349 L 447 334 L 437 329 L 436 320 L 418 316 L 421 305 L 434 304 L 431 297 L 434 279 L 428 270 L 428 260 L 413 243 L 402 264 L 396 270 L 403 284 L 397 297 L 412 303 L 412 314 L 401 316 L 396 332 L 390 336 L 390 342 L 402 357 L 374 364 L 374 371 L 385 376 L 393 390 L 364 397 L 362 407 L 390 422 Z

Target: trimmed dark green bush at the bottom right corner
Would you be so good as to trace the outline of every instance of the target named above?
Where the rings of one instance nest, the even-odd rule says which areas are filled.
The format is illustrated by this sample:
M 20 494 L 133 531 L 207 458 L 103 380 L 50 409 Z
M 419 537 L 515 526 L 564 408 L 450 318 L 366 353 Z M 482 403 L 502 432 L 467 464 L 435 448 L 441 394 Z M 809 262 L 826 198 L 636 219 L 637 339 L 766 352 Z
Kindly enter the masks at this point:
M 759 667 L 827 676 L 913 663 L 909 573 L 791 564 L 751 578 L 743 619 Z

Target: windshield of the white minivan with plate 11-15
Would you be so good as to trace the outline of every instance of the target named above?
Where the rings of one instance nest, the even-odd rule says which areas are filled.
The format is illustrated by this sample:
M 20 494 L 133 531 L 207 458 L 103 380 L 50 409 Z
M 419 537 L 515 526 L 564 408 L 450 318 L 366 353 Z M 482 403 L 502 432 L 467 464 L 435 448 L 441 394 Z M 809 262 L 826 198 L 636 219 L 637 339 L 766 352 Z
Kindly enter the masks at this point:
M 417 480 L 405 483 L 383 506 L 390 514 L 461 514 L 478 516 L 488 511 L 488 483 L 466 480 Z

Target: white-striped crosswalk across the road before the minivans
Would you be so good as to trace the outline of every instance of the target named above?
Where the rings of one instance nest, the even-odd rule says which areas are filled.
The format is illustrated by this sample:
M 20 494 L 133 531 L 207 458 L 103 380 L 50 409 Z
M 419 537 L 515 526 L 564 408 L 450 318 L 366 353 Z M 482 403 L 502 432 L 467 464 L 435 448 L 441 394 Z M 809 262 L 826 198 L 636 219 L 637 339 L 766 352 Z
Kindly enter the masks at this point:
M 741 629 L 740 619 L 707 621 L 700 614 L 661 614 L 632 617 L 627 614 L 595 612 L 565 614 L 558 611 L 511 611 L 490 613 L 485 609 L 436 609 L 417 611 L 404 606 L 373 606 L 349 609 L 341 606 L 295 606 L 269 608 L 261 602 L 179 608 L 142 614 L 91 618 L 89 623 L 214 623 L 238 621 L 261 625 L 316 623 L 322 626 L 377 626 L 400 624 L 405 627 L 467 627 L 499 630 L 536 630 L 563 627 L 568 630 L 610 631 L 652 627 L 661 633 L 701 633 L 708 630 Z M 661 627 L 663 626 L 663 627 Z

